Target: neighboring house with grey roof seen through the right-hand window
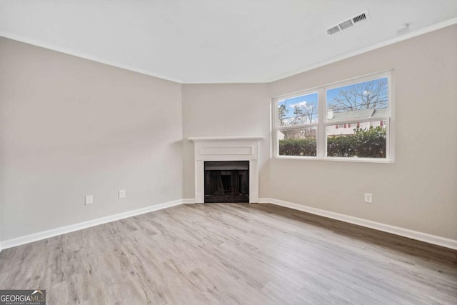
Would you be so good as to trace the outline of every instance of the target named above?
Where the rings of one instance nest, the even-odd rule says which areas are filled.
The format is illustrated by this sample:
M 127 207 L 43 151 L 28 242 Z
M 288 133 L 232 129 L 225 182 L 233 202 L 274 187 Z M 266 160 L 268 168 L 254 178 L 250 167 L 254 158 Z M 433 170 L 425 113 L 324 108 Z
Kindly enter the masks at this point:
M 346 136 L 354 134 L 354 129 L 369 129 L 377 126 L 386 126 L 387 121 L 385 118 L 388 116 L 387 109 L 359 109 L 353 111 L 333 112 L 332 109 L 327 111 L 327 121 L 329 123 L 335 122 L 335 125 L 327 125 L 327 136 Z M 360 119 L 360 121 L 353 123 L 345 123 Z M 379 119 L 378 121 L 367 121 L 372 119 Z

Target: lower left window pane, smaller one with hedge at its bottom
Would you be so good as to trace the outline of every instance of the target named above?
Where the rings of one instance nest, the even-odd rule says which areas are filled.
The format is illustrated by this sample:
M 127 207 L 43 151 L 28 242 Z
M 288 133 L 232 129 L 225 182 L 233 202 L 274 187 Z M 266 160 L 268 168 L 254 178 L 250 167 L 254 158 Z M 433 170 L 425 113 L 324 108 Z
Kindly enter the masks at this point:
M 316 156 L 317 127 L 278 131 L 280 156 Z

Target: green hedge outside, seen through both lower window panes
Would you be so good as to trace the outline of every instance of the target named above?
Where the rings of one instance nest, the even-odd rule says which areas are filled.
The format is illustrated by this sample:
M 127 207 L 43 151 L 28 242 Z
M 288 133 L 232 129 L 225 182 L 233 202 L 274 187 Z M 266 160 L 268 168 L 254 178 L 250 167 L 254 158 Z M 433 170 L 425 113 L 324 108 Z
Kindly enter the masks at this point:
M 279 140 L 279 155 L 316 156 L 316 139 Z M 348 136 L 329 136 L 327 155 L 386 158 L 386 129 L 378 126 L 356 129 L 356 134 Z

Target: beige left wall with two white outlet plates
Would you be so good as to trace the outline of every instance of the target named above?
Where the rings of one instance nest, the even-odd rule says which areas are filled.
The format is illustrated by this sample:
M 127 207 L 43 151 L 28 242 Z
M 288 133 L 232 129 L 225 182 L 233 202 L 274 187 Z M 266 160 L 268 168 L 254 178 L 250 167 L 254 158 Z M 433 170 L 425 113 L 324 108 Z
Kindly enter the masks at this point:
M 3 38 L 0 71 L 1 239 L 182 198 L 180 84 Z

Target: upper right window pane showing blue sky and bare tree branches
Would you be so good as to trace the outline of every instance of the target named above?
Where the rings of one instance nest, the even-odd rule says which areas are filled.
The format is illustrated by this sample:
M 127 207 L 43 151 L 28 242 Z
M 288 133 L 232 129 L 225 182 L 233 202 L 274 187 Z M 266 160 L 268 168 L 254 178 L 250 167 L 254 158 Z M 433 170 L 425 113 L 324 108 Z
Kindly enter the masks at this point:
M 387 77 L 326 91 L 326 119 L 349 121 L 386 117 L 388 106 Z

